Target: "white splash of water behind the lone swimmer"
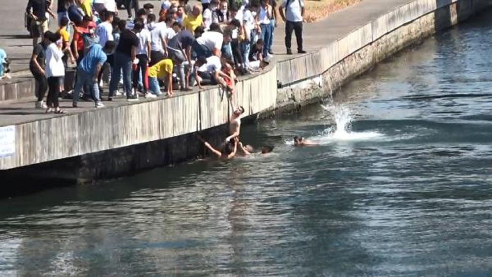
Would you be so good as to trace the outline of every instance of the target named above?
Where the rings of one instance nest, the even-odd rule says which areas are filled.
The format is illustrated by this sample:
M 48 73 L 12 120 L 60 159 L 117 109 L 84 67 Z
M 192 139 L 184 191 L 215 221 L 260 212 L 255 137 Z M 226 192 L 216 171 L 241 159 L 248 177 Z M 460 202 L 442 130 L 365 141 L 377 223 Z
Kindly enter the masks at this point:
M 384 135 L 375 132 L 353 132 L 352 131 L 352 111 L 343 105 L 321 105 L 323 109 L 330 112 L 335 121 L 335 125 L 323 132 L 323 135 L 312 138 L 318 143 L 330 143 L 333 141 L 358 141 L 381 138 Z

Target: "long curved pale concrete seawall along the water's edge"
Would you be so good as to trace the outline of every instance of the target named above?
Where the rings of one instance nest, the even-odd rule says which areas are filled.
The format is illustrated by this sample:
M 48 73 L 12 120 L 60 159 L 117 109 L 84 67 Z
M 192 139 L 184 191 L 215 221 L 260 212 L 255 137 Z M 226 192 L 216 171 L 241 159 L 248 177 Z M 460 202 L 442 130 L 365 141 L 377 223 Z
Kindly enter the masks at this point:
M 327 20 L 330 28 L 360 15 L 316 51 L 280 58 L 262 74 L 243 79 L 236 104 L 250 117 L 299 109 L 409 44 L 491 4 L 492 0 L 365 0 Z M 3 118 L 0 126 L 9 133 L 4 138 L 14 141 L 4 140 L 10 148 L 4 146 L 6 153 L 0 156 L 0 176 L 33 174 L 80 182 L 177 163 L 203 152 L 194 133 L 203 132 L 212 141 L 223 138 L 229 113 L 224 92 L 208 88 L 63 116 Z

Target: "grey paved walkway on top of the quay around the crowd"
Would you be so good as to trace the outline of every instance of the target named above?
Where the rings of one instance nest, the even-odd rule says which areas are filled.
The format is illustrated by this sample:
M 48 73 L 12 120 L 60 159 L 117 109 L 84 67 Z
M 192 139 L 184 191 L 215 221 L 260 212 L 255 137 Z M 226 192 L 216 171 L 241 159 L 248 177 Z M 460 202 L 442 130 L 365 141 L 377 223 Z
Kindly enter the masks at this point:
M 56 7 L 55 0 L 55 7 Z M 304 29 L 304 48 L 305 50 L 314 51 L 331 41 L 343 37 L 352 30 L 366 24 L 372 19 L 401 6 L 412 0 L 364 0 L 362 3 L 338 11 L 328 18 L 305 25 Z M 7 51 L 7 55 L 12 59 L 12 68 L 14 71 L 25 70 L 28 68 L 27 62 L 31 55 L 31 39 L 24 28 L 24 10 L 27 0 L 1 0 L 2 9 L 0 18 L 9 24 L 0 26 L 0 48 Z M 152 1 L 155 3 L 155 1 Z M 122 18 L 126 18 L 126 11 L 120 11 Z M 52 26 L 52 28 L 55 28 Z M 293 56 L 284 55 L 284 25 L 279 24 L 274 32 L 273 51 L 276 54 L 276 60 L 292 58 Z M 295 37 L 295 36 L 294 36 Z M 296 49 L 295 38 L 292 41 L 292 48 Z M 176 92 L 175 95 L 180 95 Z M 107 106 L 127 104 L 126 101 L 105 102 Z M 69 113 L 79 113 L 87 110 L 85 106 L 92 107 L 87 102 L 80 105 L 77 109 L 67 108 Z M 40 110 L 33 108 L 33 101 L 19 100 L 9 103 L 0 104 L 0 126 L 28 122 L 41 118 L 55 117 L 57 115 L 46 115 Z M 61 103 L 62 107 L 71 107 L 69 100 Z

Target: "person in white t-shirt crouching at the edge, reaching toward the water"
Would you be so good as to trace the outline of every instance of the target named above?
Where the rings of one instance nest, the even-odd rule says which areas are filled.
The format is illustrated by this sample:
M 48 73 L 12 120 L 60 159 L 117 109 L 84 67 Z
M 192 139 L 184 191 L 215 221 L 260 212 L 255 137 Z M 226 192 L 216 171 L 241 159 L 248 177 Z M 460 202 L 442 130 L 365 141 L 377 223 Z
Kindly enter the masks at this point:
M 210 56 L 209 58 L 198 57 L 195 62 L 195 81 L 198 88 L 203 89 L 202 82 L 210 85 L 220 84 L 222 87 L 228 88 L 224 79 L 222 79 L 225 74 L 220 70 L 221 68 L 222 63 L 217 56 Z

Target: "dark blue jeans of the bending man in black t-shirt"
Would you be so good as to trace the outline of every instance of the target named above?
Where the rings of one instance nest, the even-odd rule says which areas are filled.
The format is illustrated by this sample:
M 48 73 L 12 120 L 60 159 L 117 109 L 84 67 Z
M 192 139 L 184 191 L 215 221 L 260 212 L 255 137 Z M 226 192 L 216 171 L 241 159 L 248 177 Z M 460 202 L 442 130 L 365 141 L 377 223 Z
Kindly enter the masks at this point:
M 118 84 L 123 70 L 123 88 L 126 97 L 131 96 L 131 57 L 121 52 L 113 54 L 113 68 L 111 68 L 111 82 L 109 82 L 109 96 L 118 90 Z

